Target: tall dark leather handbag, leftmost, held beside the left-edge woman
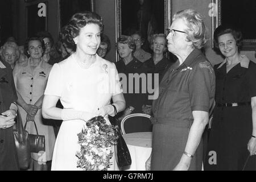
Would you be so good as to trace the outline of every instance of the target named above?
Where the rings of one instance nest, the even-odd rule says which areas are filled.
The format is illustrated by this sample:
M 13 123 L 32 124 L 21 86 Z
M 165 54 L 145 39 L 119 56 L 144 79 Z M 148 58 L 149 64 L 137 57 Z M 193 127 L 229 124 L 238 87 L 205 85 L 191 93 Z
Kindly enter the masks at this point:
M 24 130 L 19 109 L 16 116 L 16 129 L 13 131 L 20 169 L 28 169 L 31 163 L 30 141 L 28 132 Z

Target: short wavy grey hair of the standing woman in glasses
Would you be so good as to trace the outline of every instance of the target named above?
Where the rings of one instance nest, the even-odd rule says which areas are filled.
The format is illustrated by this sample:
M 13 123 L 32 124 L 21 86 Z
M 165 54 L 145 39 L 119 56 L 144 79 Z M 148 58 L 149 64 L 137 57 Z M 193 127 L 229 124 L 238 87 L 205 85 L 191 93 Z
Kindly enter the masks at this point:
M 174 14 L 173 21 L 175 19 L 183 19 L 187 25 L 188 41 L 193 43 L 193 47 L 202 48 L 207 43 L 208 28 L 204 23 L 204 18 L 200 13 L 192 9 L 181 10 Z

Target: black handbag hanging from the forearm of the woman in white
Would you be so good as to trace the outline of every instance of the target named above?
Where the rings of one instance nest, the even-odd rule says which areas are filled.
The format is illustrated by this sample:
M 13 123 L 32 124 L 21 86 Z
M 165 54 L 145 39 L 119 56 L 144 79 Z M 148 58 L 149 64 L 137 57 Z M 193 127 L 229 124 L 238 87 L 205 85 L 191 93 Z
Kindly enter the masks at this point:
M 115 115 L 117 114 L 117 108 L 114 105 Z M 126 170 L 131 166 L 131 155 L 125 139 L 123 139 L 122 134 L 115 127 L 115 134 L 118 136 L 117 144 L 115 145 L 115 160 L 117 160 L 117 164 L 119 169 Z

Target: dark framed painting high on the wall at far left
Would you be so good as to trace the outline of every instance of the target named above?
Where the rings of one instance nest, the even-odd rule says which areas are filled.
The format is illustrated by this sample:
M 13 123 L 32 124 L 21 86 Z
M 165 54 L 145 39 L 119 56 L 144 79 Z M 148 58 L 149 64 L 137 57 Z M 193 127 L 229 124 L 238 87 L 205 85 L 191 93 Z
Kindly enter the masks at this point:
M 47 2 L 28 5 L 26 11 L 28 37 L 39 31 L 47 31 Z

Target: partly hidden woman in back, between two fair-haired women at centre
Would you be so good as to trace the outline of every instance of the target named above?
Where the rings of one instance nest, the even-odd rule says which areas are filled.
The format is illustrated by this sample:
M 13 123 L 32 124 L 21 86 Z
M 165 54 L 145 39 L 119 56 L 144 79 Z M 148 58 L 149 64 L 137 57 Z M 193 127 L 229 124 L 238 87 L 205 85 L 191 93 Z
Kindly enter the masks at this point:
M 134 42 L 136 44 L 136 50 L 133 54 L 134 57 L 136 57 L 142 63 L 150 59 L 151 54 L 142 49 L 144 39 L 142 39 L 141 33 L 135 32 L 133 35 L 131 35 L 131 37 L 134 39 Z

